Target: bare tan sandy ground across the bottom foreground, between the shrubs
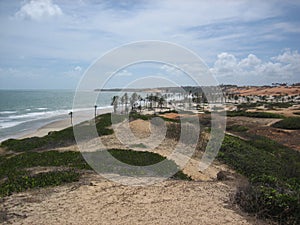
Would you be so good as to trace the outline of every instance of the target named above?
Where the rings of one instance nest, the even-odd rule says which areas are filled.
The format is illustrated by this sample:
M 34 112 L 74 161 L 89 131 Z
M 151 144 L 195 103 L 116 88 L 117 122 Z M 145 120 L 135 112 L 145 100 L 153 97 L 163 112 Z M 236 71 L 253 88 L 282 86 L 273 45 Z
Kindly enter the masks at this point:
M 233 208 L 233 192 L 221 182 L 130 187 L 89 175 L 81 185 L 14 194 L 2 205 L 13 224 L 261 224 Z

